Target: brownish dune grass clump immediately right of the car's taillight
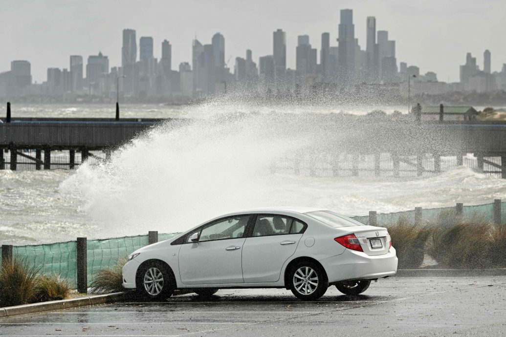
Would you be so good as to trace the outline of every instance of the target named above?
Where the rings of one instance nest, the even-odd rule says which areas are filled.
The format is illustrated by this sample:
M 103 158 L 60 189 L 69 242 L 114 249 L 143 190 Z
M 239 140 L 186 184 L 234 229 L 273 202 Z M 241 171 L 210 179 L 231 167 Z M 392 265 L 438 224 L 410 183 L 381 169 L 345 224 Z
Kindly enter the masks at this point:
M 424 261 L 425 246 L 432 228 L 419 227 L 401 217 L 395 225 L 387 226 L 387 229 L 397 252 L 399 268 L 418 268 Z

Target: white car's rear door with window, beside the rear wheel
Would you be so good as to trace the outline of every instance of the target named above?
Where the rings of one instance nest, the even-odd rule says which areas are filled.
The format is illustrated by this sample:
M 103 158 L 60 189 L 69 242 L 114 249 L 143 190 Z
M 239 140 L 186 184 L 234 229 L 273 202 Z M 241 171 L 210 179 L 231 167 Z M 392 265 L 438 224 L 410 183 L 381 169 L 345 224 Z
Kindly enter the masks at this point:
M 244 282 L 276 282 L 281 268 L 295 253 L 307 225 L 300 220 L 275 214 L 258 214 L 242 246 Z

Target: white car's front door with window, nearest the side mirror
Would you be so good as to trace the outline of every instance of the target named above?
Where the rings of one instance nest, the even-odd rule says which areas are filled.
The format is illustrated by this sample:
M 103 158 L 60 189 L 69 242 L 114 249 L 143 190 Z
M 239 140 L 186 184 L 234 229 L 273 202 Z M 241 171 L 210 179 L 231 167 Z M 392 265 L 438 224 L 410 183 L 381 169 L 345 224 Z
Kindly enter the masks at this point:
M 179 251 L 183 284 L 243 283 L 241 253 L 250 215 L 222 218 L 188 234 Z M 198 233 L 198 242 L 191 235 Z

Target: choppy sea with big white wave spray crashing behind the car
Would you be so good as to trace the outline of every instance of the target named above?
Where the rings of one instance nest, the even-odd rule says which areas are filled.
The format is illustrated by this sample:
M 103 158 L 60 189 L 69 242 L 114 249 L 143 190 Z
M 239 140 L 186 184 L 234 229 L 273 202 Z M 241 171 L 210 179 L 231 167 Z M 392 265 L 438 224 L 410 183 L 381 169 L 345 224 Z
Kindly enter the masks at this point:
M 467 167 L 400 179 L 273 171 L 294 162 L 328 166 L 327 155 L 346 139 L 314 117 L 334 111 L 325 107 L 174 109 L 188 120 L 148 131 L 109 162 L 90 159 L 75 171 L 0 171 L 0 244 L 182 231 L 244 208 L 311 206 L 353 216 L 506 199 L 506 179 Z M 308 149 L 313 155 L 301 155 Z

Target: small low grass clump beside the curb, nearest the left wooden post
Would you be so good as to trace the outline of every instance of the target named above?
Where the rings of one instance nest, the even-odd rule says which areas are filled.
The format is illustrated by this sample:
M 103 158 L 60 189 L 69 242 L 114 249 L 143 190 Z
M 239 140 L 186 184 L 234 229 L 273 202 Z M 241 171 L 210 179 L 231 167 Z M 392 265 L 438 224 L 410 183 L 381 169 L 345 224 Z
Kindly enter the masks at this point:
M 70 294 L 70 284 L 58 274 L 37 277 L 31 302 L 46 302 L 66 299 Z

